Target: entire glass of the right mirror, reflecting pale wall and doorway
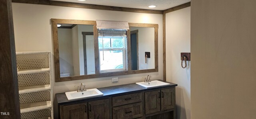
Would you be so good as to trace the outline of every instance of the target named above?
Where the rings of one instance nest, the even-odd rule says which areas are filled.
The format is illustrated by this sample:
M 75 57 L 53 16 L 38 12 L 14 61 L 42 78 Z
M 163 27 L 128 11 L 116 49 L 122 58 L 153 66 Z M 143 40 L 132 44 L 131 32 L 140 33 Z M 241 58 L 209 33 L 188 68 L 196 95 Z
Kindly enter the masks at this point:
M 154 27 L 130 27 L 132 70 L 155 68 L 154 40 Z M 145 57 L 145 52 L 150 52 L 150 58 Z

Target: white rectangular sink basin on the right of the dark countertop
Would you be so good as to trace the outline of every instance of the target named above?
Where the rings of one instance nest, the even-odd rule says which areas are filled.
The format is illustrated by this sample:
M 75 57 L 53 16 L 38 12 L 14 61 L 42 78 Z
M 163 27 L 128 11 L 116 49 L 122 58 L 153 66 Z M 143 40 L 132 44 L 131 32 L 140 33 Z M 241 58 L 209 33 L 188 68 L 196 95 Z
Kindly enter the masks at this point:
M 159 87 L 159 86 L 168 86 L 170 84 L 161 82 L 159 80 L 152 80 L 151 82 L 138 82 L 136 83 L 140 86 L 143 86 L 145 88 L 154 88 L 154 87 Z

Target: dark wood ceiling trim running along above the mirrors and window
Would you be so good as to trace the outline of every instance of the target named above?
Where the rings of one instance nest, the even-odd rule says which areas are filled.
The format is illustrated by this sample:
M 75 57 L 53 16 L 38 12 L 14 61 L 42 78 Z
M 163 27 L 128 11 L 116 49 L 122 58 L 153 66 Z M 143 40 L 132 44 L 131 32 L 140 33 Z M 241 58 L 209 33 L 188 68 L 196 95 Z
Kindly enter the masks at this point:
M 12 0 L 12 2 L 27 3 L 27 4 L 51 5 L 51 6 L 62 6 L 62 7 L 73 7 L 73 8 L 86 8 L 86 9 L 96 9 L 96 10 L 112 10 L 112 11 L 122 11 L 122 12 L 163 14 L 163 10 L 146 10 L 146 9 L 138 9 L 138 8 L 123 8 L 123 7 L 102 6 L 102 5 L 94 5 L 94 4 L 82 4 L 82 3 L 73 3 L 73 2 L 52 1 L 52 0 Z

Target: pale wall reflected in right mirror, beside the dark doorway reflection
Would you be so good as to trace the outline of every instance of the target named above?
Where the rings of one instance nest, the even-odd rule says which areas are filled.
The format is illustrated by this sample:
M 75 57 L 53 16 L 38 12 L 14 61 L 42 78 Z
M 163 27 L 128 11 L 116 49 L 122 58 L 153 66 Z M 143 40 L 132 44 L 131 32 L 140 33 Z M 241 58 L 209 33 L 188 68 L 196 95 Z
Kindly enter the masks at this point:
M 152 27 L 131 27 L 130 31 L 133 30 L 138 30 L 139 70 L 155 68 L 155 29 Z M 145 63 L 145 52 L 150 52 L 147 63 Z M 140 64 L 143 64 L 143 67 Z

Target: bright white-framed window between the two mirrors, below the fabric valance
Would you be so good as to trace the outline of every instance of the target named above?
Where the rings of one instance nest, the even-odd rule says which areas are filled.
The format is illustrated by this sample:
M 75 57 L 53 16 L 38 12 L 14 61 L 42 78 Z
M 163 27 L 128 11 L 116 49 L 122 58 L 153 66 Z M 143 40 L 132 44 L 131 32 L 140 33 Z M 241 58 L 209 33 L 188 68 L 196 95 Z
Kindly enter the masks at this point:
M 127 70 L 126 44 L 126 31 L 116 29 L 99 30 L 100 72 Z

